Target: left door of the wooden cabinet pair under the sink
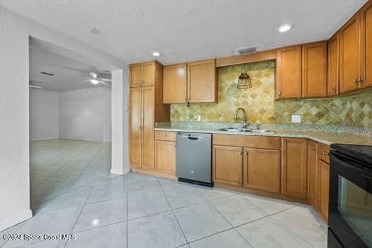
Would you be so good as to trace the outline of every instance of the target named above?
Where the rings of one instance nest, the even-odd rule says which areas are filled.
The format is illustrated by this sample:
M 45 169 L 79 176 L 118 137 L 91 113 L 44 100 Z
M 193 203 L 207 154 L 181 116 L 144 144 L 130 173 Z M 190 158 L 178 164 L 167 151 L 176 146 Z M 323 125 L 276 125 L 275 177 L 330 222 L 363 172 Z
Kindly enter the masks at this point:
M 240 147 L 213 145 L 213 181 L 242 186 L 243 152 Z

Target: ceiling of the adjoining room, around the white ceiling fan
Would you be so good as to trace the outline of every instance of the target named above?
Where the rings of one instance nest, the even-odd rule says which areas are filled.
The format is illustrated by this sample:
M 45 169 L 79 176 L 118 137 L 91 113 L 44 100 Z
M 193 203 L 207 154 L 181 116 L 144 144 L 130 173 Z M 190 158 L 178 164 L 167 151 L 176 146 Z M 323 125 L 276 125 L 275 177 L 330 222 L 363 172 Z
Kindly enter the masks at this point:
M 48 72 L 49 76 L 41 74 Z M 98 87 L 82 83 L 89 78 L 89 72 L 99 72 L 96 67 L 69 59 L 30 45 L 30 84 L 42 86 L 47 91 L 73 91 Z M 103 78 L 111 78 L 111 74 L 103 74 Z

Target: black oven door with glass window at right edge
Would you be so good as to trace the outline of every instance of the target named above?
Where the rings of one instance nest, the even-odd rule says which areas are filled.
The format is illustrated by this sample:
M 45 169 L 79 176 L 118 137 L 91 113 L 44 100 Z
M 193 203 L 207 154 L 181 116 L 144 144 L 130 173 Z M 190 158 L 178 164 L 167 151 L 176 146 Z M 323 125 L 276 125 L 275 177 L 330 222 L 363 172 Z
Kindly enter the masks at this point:
M 339 247 L 372 247 L 372 178 L 330 154 L 329 229 Z

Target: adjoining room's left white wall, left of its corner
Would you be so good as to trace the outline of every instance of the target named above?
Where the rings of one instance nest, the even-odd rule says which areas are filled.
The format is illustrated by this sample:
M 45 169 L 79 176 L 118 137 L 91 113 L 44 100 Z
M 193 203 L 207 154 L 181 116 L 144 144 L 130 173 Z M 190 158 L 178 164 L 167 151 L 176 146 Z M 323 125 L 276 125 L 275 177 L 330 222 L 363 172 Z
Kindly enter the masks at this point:
M 60 137 L 60 94 L 30 88 L 30 140 Z

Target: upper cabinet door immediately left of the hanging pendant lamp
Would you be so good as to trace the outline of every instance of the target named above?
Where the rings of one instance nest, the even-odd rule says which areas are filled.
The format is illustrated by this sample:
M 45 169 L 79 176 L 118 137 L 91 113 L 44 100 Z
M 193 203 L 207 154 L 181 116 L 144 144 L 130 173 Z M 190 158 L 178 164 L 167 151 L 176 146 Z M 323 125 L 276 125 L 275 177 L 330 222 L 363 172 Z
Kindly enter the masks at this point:
M 215 60 L 188 63 L 187 86 L 188 102 L 216 102 Z

